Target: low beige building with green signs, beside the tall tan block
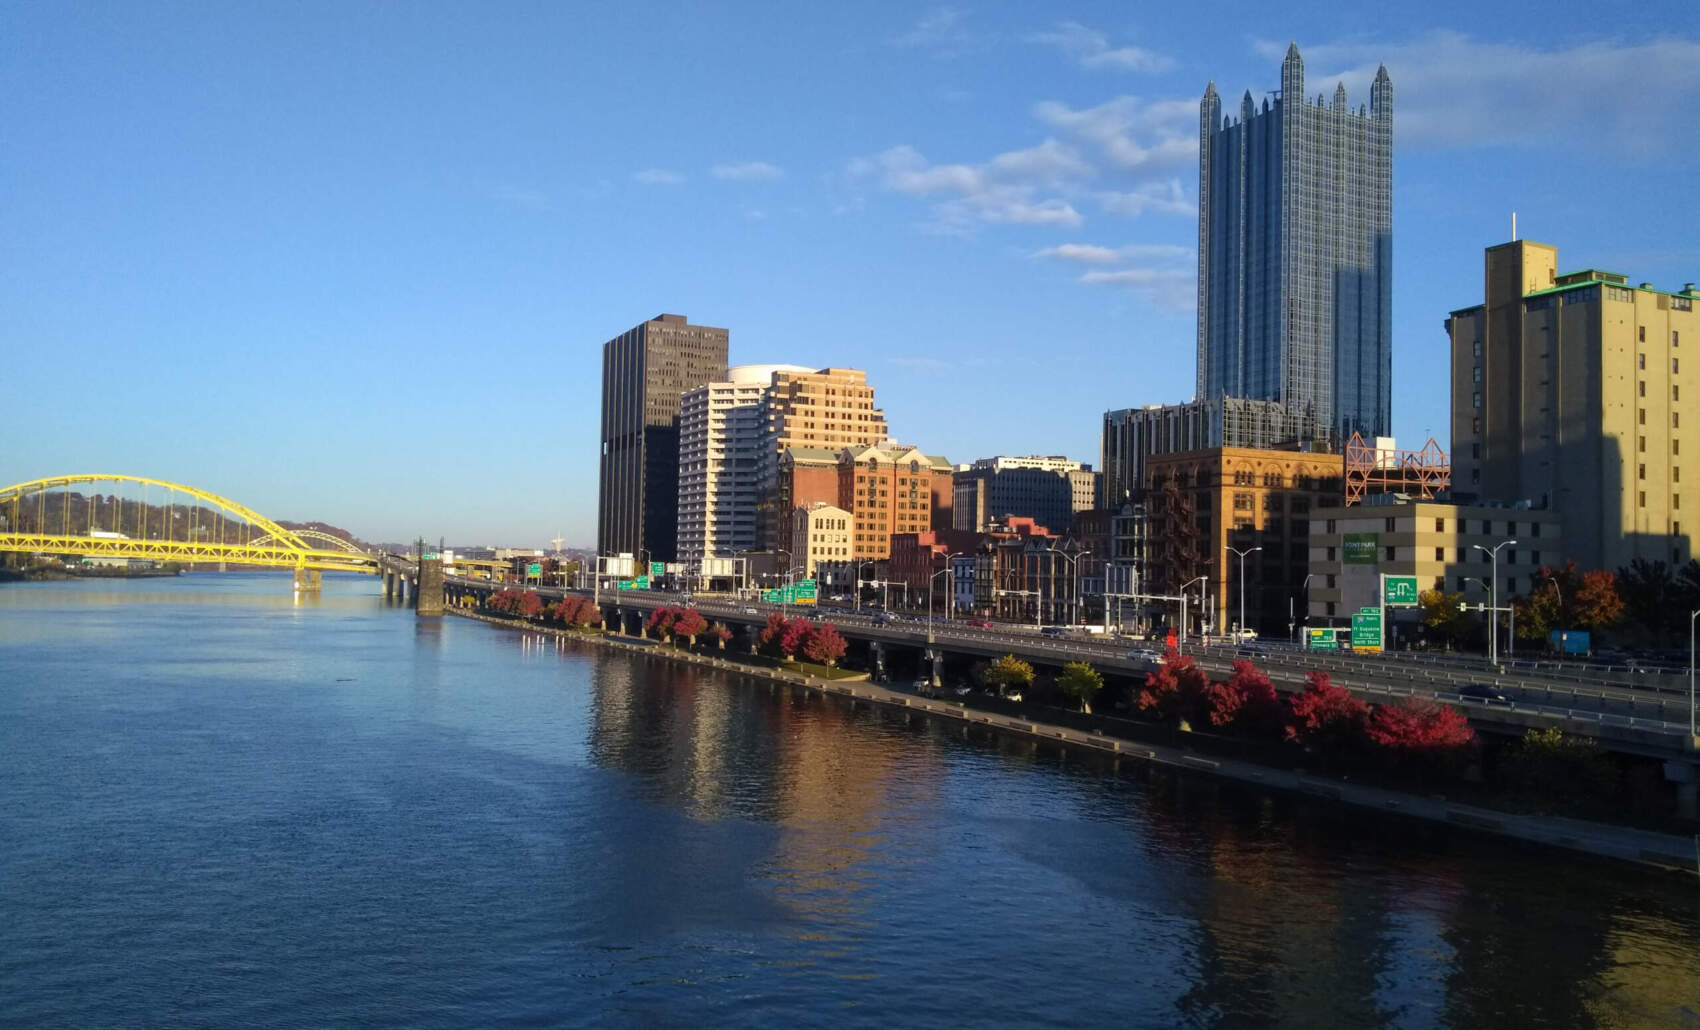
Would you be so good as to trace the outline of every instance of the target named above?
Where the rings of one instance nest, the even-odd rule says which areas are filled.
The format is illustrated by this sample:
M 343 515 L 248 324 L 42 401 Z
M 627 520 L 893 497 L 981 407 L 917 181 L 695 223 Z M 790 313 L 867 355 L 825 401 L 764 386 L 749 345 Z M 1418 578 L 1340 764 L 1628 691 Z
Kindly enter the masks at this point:
M 1499 547 L 1498 561 L 1481 547 Z M 1498 571 L 1504 605 L 1538 588 L 1537 569 L 1564 554 L 1556 512 L 1440 501 L 1314 508 L 1309 625 L 1350 624 L 1353 612 L 1379 603 L 1384 574 L 1416 576 L 1418 590 L 1462 593 L 1477 605 L 1491 600 Z

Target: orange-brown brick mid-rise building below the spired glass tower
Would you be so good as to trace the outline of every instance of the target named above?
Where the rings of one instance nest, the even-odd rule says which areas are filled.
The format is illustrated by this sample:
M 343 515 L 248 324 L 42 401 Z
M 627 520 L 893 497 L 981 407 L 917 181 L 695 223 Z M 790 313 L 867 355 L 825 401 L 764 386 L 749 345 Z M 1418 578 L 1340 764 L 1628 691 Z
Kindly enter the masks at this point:
M 1192 583 L 1188 595 L 1197 597 L 1195 580 L 1204 576 L 1209 605 L 1200 617 L 1222 632 L 1239 620 L 1241 561 L 1227 547 L 1258 547 L 1244 559 L 1246 622 L 1261 634 L 1284 634 L 1289 598 L 1309 571 L 1311 512 L 1341 501 L 1345 459 L 1212 447 L 1153 456 L 1148 469 L 1149 593 L 1171 595 Z

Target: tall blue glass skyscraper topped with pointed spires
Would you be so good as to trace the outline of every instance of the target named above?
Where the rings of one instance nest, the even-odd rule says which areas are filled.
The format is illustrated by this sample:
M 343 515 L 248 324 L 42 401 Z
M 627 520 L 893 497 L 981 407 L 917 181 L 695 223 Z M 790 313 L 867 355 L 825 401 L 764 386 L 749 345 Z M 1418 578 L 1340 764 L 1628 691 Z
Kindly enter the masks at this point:
M 1341 439 L 1392 430 L 1392 82 L 1368 110 L 1280 92 L 1198 105 L 1198 399 L 1282 401 Z

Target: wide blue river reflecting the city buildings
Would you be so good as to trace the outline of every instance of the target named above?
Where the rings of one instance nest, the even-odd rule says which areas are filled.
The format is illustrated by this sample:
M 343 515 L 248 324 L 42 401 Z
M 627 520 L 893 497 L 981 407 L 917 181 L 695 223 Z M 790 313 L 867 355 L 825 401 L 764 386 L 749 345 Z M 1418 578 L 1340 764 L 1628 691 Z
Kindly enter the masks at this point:
M 0 1022 L 1697 1027 L 1700 886 L 464 619 L 0 586 Z

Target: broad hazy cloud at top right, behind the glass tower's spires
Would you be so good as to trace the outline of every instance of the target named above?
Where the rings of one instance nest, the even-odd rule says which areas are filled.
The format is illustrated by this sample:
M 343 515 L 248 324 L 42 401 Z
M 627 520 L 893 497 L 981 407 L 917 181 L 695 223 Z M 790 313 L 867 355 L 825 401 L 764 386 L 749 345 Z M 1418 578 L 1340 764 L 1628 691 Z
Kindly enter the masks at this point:
M 1256 49 L 1280 61 L 1287 44 L 1260 41 Z M 1409 42 L 1324 44 L 1300 53 L 1306 93 L 1331 95 L 1343 82 L 1353 107 L 1368 102 L 1375 68 L 1386 63 L 1397 148 L 1612 148 L 1637 160 L 1693 148 L 1685 119 L 1700 104 L 1697 39 L 1535 49 L 1442 31 Z

